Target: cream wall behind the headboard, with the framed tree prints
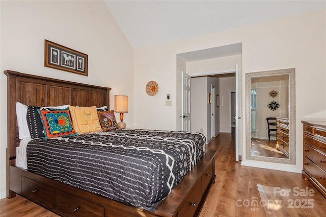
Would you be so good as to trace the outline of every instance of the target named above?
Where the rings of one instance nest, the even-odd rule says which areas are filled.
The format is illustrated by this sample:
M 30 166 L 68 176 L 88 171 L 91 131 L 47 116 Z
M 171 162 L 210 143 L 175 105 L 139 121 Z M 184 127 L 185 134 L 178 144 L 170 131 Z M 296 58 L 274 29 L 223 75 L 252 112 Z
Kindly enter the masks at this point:
M 111 109 L 115 94 L 129 96 L 129 112 L 124 115 L 128 127 L 133 127 L 134 97 L 133 50 L 104 2 L 1 1 L 0 4 L 0 198 L 3 198 L 7 147 L 4 70 L 112 87 Z M 88 54 L 88 77 L 44 67 L 44 39 Z

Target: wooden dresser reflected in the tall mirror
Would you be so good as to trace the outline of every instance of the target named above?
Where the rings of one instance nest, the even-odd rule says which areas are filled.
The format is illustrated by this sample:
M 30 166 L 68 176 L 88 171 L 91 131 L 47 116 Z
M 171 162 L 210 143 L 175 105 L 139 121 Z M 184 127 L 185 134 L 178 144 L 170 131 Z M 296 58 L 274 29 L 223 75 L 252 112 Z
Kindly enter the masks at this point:
M 276 149 L 283 152 L 283 154 L 288 158 L 290 143 L 289 143 L 289 118 L 277 117 L 276 118 Z

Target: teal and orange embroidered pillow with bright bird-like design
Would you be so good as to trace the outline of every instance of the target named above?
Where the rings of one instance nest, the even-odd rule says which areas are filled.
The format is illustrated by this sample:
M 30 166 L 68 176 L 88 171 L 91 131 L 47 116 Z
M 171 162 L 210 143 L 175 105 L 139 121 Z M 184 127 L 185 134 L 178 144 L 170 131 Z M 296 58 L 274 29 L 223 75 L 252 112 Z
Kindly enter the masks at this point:
M 68 109 L 46 111 L 38 110 L 46 138 L 75 135 Z

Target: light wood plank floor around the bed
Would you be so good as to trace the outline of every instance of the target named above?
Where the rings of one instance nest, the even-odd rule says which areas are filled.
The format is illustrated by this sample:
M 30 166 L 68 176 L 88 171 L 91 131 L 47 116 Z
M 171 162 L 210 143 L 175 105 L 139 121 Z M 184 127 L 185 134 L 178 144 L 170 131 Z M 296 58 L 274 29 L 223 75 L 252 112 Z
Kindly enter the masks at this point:
M 234 134 L 221 133 L 212 139 L 207 149 L 218 150 L 215 160 L 216 179 L 200 217 L 326 216 L 326 199 L 309 181 L 303 180 L 301 174 L 241 166 L 239 162 L 235 162 Z M 314 194 L 295 195 L 296 188 L 302 190 L 306 187 L 310 191 L 313 190 Z M 285 194 L 282 197 L 280 192 L 283 193 L 286 189 L 291 191 L 288 196 Z M 255 202 L 258 202 L 258 205 Z M 295 208 L 305 207 L 305 205 L 306 208 Z M 313 208 L 310 208 L 312 206 Z M 59 215 L 16 196 L 10 200 L 7 198 L 0 200 L 0 216 L 54 217 Z

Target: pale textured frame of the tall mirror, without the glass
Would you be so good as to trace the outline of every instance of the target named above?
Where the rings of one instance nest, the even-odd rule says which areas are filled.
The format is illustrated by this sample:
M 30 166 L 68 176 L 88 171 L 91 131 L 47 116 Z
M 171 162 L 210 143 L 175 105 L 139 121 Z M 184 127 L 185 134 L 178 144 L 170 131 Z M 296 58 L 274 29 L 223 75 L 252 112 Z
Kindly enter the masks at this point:
M 289 158 L 265 157 L 251 155 L 251 78 L 267 76 L 289 76 Z M 259 71 L 246 74 L 246 159 L 274 163 L 295 164 L 295 68 Z

